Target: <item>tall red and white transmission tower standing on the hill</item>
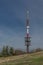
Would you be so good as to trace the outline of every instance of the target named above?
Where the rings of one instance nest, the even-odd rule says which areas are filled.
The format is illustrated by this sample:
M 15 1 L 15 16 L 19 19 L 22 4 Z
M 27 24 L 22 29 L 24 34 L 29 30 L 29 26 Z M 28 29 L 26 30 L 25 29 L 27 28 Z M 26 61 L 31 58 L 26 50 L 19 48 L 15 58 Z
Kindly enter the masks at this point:
M 29 11 L 26 14 L 26 37 L 25 37 L 25 45 L 27 49 L 27 53 L 29 53 L 29 46 L 30 46 L 30 33 L 29 33 L 30 25 L 29 25 Z

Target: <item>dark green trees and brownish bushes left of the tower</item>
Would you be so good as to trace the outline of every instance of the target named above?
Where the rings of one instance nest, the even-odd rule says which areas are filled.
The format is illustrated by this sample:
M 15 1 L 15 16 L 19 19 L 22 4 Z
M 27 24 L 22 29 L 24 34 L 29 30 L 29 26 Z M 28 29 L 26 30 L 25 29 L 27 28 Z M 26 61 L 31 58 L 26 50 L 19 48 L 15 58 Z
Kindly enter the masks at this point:
M 24 53 L 25 53 L 24 51 L 18 49 L 15 50 L 13 47 L 3 46 L 0 52 L 0 57 L 14 56 Z

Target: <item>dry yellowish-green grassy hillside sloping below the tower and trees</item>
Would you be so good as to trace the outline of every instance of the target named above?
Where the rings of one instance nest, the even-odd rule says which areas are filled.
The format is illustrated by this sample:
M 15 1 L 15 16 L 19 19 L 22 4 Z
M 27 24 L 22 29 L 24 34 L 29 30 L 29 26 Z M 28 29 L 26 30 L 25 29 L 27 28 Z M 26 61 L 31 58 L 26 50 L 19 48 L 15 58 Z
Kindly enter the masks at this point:
M 5 58 L 5 60 L 0 65 L 43 65 L 43 52 L 9 57 Z

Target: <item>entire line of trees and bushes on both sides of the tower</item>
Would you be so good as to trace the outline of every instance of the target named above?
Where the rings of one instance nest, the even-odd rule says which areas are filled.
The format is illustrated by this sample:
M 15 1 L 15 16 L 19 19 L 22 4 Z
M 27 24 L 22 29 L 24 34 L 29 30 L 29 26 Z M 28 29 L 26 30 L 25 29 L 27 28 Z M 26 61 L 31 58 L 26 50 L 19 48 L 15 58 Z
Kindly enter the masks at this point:
M 35 53 L 35 52 L 40 52 L 43 51 L 41 48 L 33 49 L 30 51 L 30 53 Z M 22 51 L 20 49 L 14 49 L 13 47 L 9 46 L 3 46 L 1 52 L 0 52 L 0 57 L 7 57 L 7 56 L 14 56 L 14 55 L 21 55 L 25 54 L 25 51 Z

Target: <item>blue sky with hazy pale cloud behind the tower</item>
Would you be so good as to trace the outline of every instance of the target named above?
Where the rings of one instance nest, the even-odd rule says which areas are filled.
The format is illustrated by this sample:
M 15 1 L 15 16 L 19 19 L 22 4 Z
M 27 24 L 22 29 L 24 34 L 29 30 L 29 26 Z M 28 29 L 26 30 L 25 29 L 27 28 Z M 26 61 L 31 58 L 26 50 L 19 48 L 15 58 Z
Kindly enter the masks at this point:
M 26 10 L 29 10 L 31 46 L 43 48 L 43 0 L 0 0 L 0 48 L 25 49 Z

